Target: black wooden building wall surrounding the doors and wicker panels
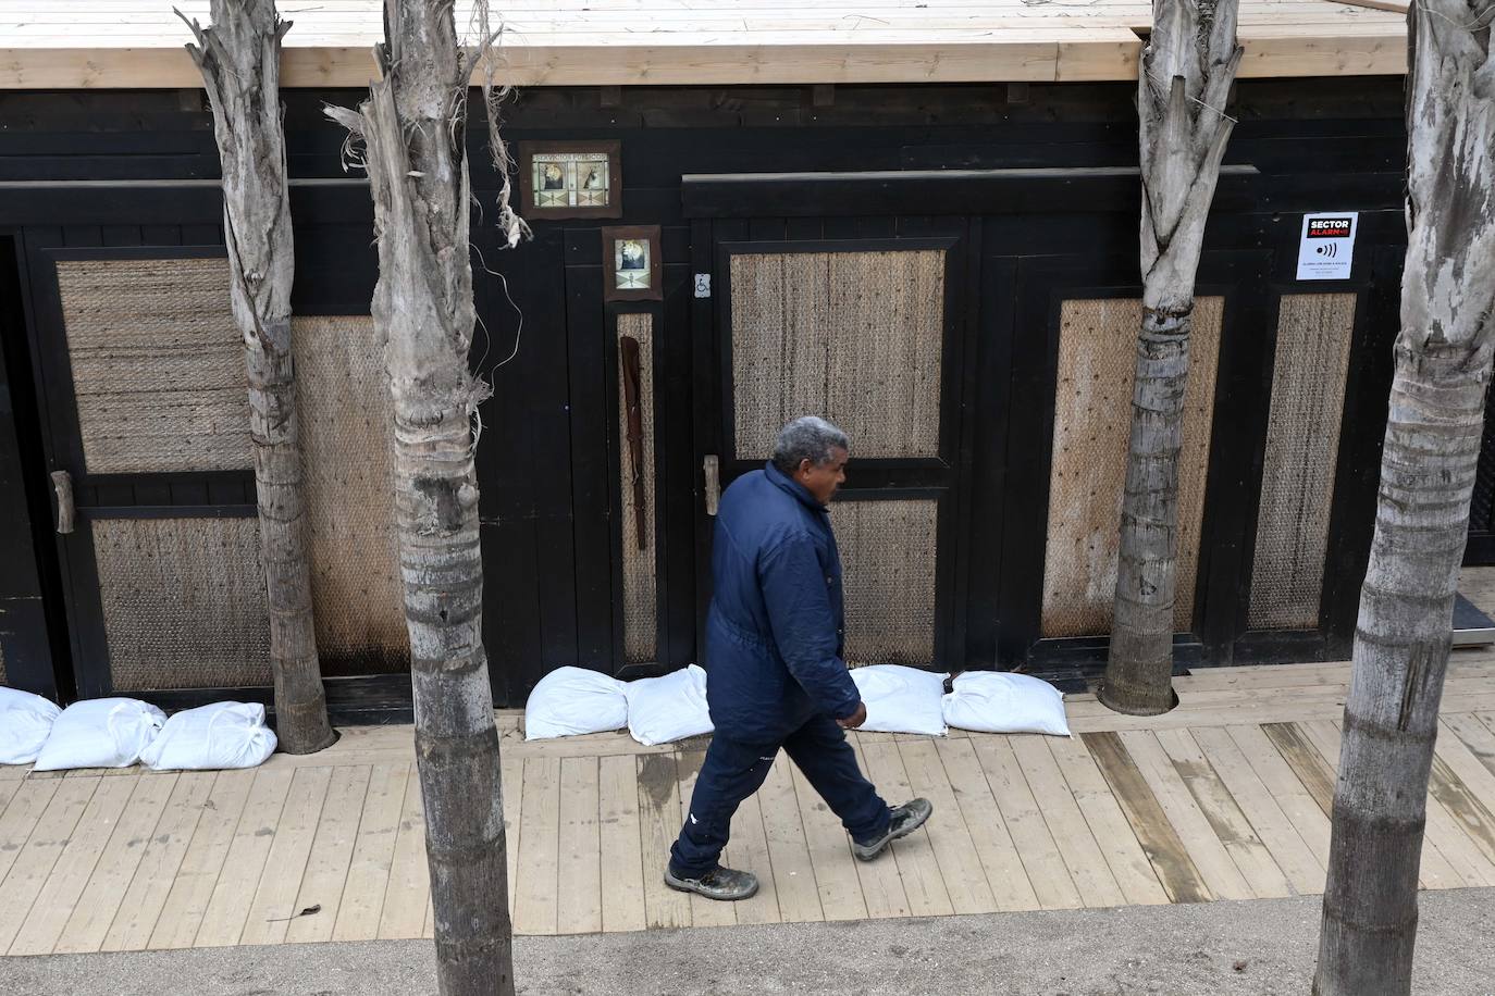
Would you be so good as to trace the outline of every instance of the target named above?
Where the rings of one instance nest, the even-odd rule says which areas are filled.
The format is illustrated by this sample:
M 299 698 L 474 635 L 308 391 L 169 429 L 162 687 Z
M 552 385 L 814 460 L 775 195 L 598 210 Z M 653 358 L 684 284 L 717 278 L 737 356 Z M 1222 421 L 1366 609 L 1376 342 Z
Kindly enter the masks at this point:
M 371 209 L 356 173 L 344 170 L 342 133 L 321 115 L 324 103 L 353 105 L 357 99 L 353 91 L 287 94 L 290 170 L 298 181 L 298 314 L 368 314 L 377 278 Z M 794 87 L 625 88 L 611 97 L 586 88 L 534 90 L 507 105 L 510 140 L 620 139 L 623 217 L 607 224 L 662 227 L 665 300 L 653 308 L 662 327 L 661 396 L 677 406 L 662 420 L 662 472 L 674 481 L 662 491 L 668 496 L 664 517 L 671 535 L 683 539 L 667 545 L 665 553 L 674 579 L 665 594 L 661 659 L 691 659 L 700 594 L 691 576 L 694 484 L 688 484 L 695 479 L 691 412 L 692 391 L 700 384 L 692 381 L 692 336 L 698 332 L 691 321 L 692 218 L 682 208 L 682 176 L 1129 167 L 1136 164 L 1132 100 L 1133 88 L 1126 85 L 972 85 L 839 87 L 830 106 L 816 106 L 810 88 Z M 1262 293 L 1287 282 L 1284 246 L 1296 239 L 1292 212 L 1380 212 L 1362 215 L 1368 225 L 1362 245 L 1398 243 L 1404 155 L 1399 79 L 1319 79 L 1311 85 L 1247 81 L 1238 87 L 1233 112 L 1239 124 L 1226 161 L 1251 164 L 1260 176 L 1239 185 L 1233 200 L 1224 197 L 1212 217 L 1209 248 L 1215 261 L 1206 266 L 1205 282 L 1244 279 Z M 477 124 L 469 137 L 474 188 L 490 221 L 496 182 Z M 217 172 L 211 118 L 197 91 L 0 94 L 0 236 L 9 234 L 18 246 L 12 269 L 19 269 L 22 278 L 31 276 L 28 248 L 220 245 L 221 208 L 211 182 Z M 1029 376 L 1021 336 L 1005 306 L 1020 294 L 1014 282 L 1018 257 L 1048 257 L 1061 267 L 1069 266 L 1064 260 L 1082 260 L 1111 284 L 1135 282 L 1135 181 L 1096 190 L 1114 191 L 1105 194 L 1114 200 L 1076 206 L 1060 193 L 1049 202 L 1017 206 L 972 202 L 969 215 L 981 220 L 976 228 L 984 267 L 973 288 L 979 300 L 972 303 L 982 323 L 976 379 Z M 771 203 L 749 205 L 740 215 L 758 218 L 755 224 L 764 230 L 788 231 L 806 224 L 786 209 L 779 215 L 774 211 Z M 945 205 L 940 212 L 961 209 Z M 897 227 L 890 214 L 872 197 L 864 212 L 848 208 L 818 222 L 816 230 L 824 237 L 884 234 Z M 474 228 L 483 326 L 474 364 L 495 387 L 495 399 L 484 406 L 478 475 L 489 564 L 487 647 L 499 702 L 520 703 L 555 666 L 610 669 L 616 657 L 617 594 L 610 554 L 616 485 L 607 473 L 614 441 L 604 334 L 611 312 L 601 294 L 599 224 L 538 222 L 534 242 L 516 251 L 499 249 L 490 224 Z M 1369 281 L 1374 270 L 1380 281 L 1393 284 L 1398 264 L 1395 251 L 1387 251 L 1366 258 L 1362 276 Z M 1245 278 L 1238 273 L 1242 267 L 1250 270 Z M 18 360 L 22 366 L 34 361 L 22 345 L 10 342 L 21 332 L 18 320 L 4 326 L 12 367 Z M 1265 346 L 1242 349 L 1223 357 L 1221 390 L 1226 403 L 1235 406 L 1229 411 L 1247 417 L 1224 420 L 1236 429 L 1221 432 L 1245 433 L 1239 426 L 1257 432 L 1265 418 L 1260 364 L 1266 357 L 1269 370 L 1269 355 Z M 1372 387 L 1378 384 L 1374 364 L 1362 373 Z M 9 379 L 24 381 L 25 372 L 18 376 L 12 369 Z M 27 494 L 34 505 L 45 502 L 39 481 L 55 441 L 42 429 L 36 402 L 21 390 L 12 390 L 12 396 L 24 402 L 16 406 L 16 427 L 19 438 L 30 439 L 30 455 L 21 449 L 16 458 L 28 464 Z M 963 642 L 976 663 L 1012 664 L 1032 656 L 1030 645 L 1005 645 L 994 623 L 1009 605 L 1029 597 L 1020 591 L 1023 558 L 1014 551 L 1033 542 L 1015 526 L 1021 520 L 1005 515 L 1003 508 L 1036 502 L 1041 496 L 1035 482 L 1039 476 L 1046 481 L 1038 472 L 1038 448 L 1008 454 L 993 443 L 1011 429 L 1008 402 L 1006 393 L 979 396 L 972 424 L 984 429 L 966 438 L 973 448 L 969 452 L 979 454 L 970 461 L 972 487 L 990 499 L 970 517 L 970 548 L 961 551 L 970 564 L 961 576 L 961 599 L 966 608 L 982 606 L 979 612 L 961 612 L 963 620 L 969 618 Z M 1357 479 L 1374 472 L 1380 436 L 1375 402 L 1365 400 L 1360 411 L 1365 421 L 1353 441 L 1347 438 L 1356 455 L 1343 470 Z M 0 503 L 7 500 L 4 429 L 0 421 Z M 1217 446 L 1233 454 L 1226 466 L 1235 466 L 1238 476 L 1211 482 L 1211 515 L 1218 521 L 1206 527 L 1214 530 L 1214 553 L 1200 570 L 1220 572 L 1226 581 L 1215 591 L 1223 591 L 1233 590 L 1230 578 L 1241 576 L 1242 557 L 1248 555 L 1248 538 L 1241 530 L 1242 523 L 1254 523 L 1250 485 L 1253 473 L 1259 479 L 1260 446 L 1245 435 L 1235 442 L 1220 439 Z M 1344 527 L 1337 532 L 1332 554 L 1334 563 L 1351 573 L 1365 542 L 1365 491 L 1363 481 L 1359 488 L 1346 488 Z M 0 514 L 4 511 L 0 505 Z M 19 526 L 13 515 L 0 518 L 7 548 L 33 545 L 28 526 Z M 37 550 L 40 575 L 54 554 L 45 536 Z M 1248 576 L 1248 560 L 1245 564 Z M 43 585 L 37 581 L 33 587 Z M 4 596 L 7 590 L 0 590 Z M 1350 594 L 1335 597 L 1346 600 Z M 991 611 L 994 603 L 997 612 Z M 1241 632 L 1239 599 L 1202 612 L 1208 624 L 1195 659 L 1229 660 Z M 1329 638 L 1313 648 L 1281 653 L 1343 650 L 1348 633 L 1343 630 L 1343 611 L 1335 612 Z M 18 639 L 6 633 L 0 627 L 0 641 Z M 52 639 L 51 645 L 66 657 L 66 641 L 57 647 Z M 1069 654 L 1066 660 L 1093 663 L 1094 653 L 1061 650 L 1061 657 Z M 66 672 L 67 662 L 60 664 Z

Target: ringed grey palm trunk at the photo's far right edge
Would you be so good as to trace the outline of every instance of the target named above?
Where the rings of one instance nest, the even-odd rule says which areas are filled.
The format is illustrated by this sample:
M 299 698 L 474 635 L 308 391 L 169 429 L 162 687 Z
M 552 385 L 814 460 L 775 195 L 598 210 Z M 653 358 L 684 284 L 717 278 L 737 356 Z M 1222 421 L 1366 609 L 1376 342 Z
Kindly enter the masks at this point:
M 1408 12 L 1408 246 L 1334 796 L 1316 996 L 1405 996 L 1495 320 L 1491 3 Z

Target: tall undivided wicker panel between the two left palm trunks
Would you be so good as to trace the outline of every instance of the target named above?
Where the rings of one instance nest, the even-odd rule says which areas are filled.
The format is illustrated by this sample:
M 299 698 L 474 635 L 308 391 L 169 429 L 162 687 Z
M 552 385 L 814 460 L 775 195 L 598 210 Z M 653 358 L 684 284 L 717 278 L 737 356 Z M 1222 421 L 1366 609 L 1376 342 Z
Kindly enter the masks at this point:
M 296 318 L 306 539 L 323 675 L 410 667 L 389 385 L 368 317 Z

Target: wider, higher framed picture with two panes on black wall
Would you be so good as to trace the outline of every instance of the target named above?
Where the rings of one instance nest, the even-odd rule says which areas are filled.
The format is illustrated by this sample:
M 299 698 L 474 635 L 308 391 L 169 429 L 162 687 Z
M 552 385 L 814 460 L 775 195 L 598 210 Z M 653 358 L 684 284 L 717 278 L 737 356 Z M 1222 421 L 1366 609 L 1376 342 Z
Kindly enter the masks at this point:
M 623 143 L 520 142 L 520 214 L 526 218 L 622 218 Z

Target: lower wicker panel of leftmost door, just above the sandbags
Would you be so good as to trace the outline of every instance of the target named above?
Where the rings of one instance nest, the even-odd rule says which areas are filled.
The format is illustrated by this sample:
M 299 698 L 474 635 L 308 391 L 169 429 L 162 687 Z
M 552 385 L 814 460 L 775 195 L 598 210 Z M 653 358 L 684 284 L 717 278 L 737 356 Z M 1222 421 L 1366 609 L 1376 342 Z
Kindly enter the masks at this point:
M 115 688 L 271 684 L 257 520 L 103 518 L 91 529 Z

